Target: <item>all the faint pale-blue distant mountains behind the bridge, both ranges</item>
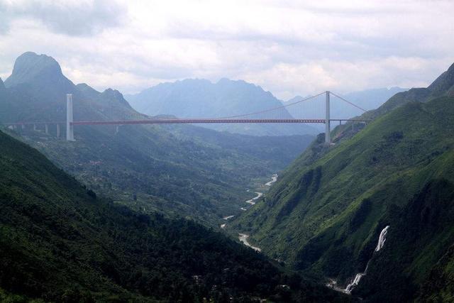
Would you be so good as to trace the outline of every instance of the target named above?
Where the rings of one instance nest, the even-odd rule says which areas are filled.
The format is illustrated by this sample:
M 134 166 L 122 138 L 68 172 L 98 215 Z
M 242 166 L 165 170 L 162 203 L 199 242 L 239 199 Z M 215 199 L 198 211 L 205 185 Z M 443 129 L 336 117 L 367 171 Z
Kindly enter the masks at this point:
M 407 89 L 392 87 L 390 89 L 366 89 L 360 92 L 345 94 L 345 99 L 362 109 L 376 109 L 397 92 Z M 138 94 L 127 94 L 126 99 L 140 112 L 149 115 L 173 115 L 179 118 L 217 118 L 248 114 L 264 109 L 272 109 L 285 104 L 300 101 L 305 97 L 297 96 L 287 102 L 279 101 L 271 92 L 248 82 L 220 79 L 212 83 L 206 79 L 184 79 L 177 82 L 158 84 L 144 89 Z M 299 108 L 289 106 L 285 109 L 289 116 L 299 117 Z M 332 102 L 331 113 L 336 119 L 350 119 L 363 114 L 354 106 Z M 270 119 L 279 118 L 270 116 Z M 312 117 L 316 119 L 319 117 Z M 323 126 L 306 125 L 269 125 L 269 124 L 206 124 L 204 127 L 231 133 L 245 133 L 254 136 L 282 136 L 293 134 L 319 133 Z

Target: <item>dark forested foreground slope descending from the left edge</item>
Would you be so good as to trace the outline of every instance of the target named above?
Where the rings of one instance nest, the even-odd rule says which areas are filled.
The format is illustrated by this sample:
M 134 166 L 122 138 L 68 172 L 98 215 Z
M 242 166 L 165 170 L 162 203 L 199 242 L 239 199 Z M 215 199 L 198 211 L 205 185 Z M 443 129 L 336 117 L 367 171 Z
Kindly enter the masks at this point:
M 290 279 L 220 233 L 105 202 L 37 150 L 1 132 L 0 167 L 1 299 L 336 298 L 297 276 Z

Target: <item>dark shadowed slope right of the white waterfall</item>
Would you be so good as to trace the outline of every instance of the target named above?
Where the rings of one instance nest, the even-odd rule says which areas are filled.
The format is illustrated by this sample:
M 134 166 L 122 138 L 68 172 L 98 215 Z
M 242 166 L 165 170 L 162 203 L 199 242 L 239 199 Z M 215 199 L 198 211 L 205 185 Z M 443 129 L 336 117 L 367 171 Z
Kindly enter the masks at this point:
M 415 297 L 426 298 L 424 302 L 430 297 L 453 301 L 454 281 L 447 279 L 453 274 L 447 264 L 454 260 L 450 255 L 454 243 L 453 163 L 451 150 L 428 167 L 431 172 L 436 171 L 434 176 L 416 191 L 408 204 L 387 211 L 384 221 L 391 225 L 387 249 L 372 259 L 356 294 L 375 301 L 406 301 Z M 427 175 L 422 172 L 418 177 Z M 440 268 L 445 276 L 438 280 L 434 273 L 440 272 Z

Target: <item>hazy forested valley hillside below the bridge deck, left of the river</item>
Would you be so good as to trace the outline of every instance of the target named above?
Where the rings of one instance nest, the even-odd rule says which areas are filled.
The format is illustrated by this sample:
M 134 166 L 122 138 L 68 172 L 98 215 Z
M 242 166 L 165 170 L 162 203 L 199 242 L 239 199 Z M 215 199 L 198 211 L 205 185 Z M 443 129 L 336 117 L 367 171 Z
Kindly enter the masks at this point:
M 246 189 L 282 169 L 311 140 L 238 136 L 191 126 L 121 126 L 111 135 L 82 126 L 71 143 L 31 130 L 12 134 L 105 197 L 211 226 L 218 226 L 223 216 L 239 214 L 253 197 Z

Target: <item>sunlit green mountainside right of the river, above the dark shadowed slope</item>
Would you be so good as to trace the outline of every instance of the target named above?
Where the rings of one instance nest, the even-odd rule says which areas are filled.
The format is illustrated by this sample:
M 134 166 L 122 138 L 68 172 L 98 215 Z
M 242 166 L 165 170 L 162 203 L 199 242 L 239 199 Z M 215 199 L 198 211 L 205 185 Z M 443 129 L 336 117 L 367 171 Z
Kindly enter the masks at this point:
M 301 156 L 232 228 L 298 268 L 350 277 L 365 267 L 392 205 L 404 207 L 430 180 L 454 180 L 453 116 L 453 98 L 406 104 L 311 165 Z

